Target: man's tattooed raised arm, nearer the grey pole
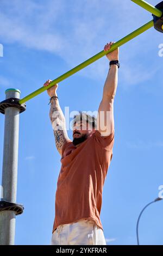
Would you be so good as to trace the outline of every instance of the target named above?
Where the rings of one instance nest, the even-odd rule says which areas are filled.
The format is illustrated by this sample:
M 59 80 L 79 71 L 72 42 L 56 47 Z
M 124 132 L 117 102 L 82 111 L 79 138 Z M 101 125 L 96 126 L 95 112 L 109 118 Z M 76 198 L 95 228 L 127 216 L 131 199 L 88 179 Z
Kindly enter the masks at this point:
M 43 86 L 48 86 L 51 80 L 48 80 Z M 58 84 L 49 88 L 47 93 L 50 97 L 57 96 L 57 88 Z M 49 111 L 49 118 L 51 119 L 54 137 L 55 137 L 55 145 L 61 155 L 62 147 L 65 142 L 70 141 L 68 138 L 67 130 L 66 130 L 66 121 L 64 114 L 60 108 L 59 100 L 57 97 L 52 98 L 51 100 L 51 109 Z

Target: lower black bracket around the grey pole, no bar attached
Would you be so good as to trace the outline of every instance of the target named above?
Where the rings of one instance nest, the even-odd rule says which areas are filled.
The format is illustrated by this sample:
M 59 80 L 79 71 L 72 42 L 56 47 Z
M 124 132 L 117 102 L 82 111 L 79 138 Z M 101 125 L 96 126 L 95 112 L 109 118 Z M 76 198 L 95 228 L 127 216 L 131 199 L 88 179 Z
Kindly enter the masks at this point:
M 0 201 L 0 212 L 1 211 L 15 211 L 16 215 L 23 213 L 24 206 L 22 204 L 15 204 L 9 201 Z

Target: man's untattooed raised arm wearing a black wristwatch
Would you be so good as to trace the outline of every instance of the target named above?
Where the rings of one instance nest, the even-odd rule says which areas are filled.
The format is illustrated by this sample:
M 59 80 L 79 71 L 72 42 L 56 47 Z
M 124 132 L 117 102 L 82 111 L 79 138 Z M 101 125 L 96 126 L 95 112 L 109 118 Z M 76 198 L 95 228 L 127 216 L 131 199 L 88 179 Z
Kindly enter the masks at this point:
M 113 42 L 105 45 L 104 51 L 108 51 Z M 106 57 L 111 60 L 118 60 L 118 49 L 110 52 Z M 114 131 L 114 98 L 118 83 L 118 66 L 111 65 L 106 77 L 103 89 L 102 101 L 98 108 L 97 129 L 102 136 L 109 136 Z

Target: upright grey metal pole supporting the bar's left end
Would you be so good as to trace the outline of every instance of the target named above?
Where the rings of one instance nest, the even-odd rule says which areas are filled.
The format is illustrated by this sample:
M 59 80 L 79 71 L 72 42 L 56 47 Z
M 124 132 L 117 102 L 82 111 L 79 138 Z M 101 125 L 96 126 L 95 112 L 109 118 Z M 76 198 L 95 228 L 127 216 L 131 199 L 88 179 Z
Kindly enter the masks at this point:
M 5 90 L 6 99 L 20 99 L 20 90 Z M 20 109 L 5 109 L 3 167 L 2 167 L 2 198 L 16 203 L 18 132 Z M 0 211 L 0 245 L 14 245 L 15 242 L 15 211 Z

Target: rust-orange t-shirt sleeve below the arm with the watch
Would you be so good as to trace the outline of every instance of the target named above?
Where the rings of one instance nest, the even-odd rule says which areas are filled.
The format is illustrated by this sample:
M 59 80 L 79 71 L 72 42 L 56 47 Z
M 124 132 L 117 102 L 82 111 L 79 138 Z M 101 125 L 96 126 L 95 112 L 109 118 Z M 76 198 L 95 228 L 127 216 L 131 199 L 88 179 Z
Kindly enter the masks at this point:
M 101 133 L 95 131 L 95 140 L 105 150 L 112 150 L 114 145 L 114 131 L 109 136 L 102 136 Z

